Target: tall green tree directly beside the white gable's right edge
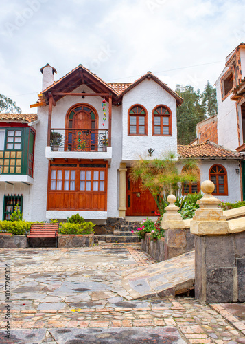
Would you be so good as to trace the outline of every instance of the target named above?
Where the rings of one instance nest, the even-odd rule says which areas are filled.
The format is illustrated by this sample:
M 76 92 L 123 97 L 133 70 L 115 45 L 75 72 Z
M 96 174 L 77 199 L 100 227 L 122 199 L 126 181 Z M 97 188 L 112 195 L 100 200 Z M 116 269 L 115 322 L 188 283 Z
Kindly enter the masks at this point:
M 183 99 L 177 109 L 178 144 L 189 144 L 196 138 L 196 125 L 205 120 L 205 109 L 200 104 L 200 90 L 192 86 L 176 85 L 176 93 Z

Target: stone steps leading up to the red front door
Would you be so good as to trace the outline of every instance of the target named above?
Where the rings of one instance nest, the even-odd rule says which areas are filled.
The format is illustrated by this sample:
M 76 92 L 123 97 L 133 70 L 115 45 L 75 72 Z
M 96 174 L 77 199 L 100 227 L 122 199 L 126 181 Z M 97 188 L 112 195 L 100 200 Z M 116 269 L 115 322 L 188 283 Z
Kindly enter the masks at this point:
M 136 226 L 136 227 L 135 227 Z M 106 243 L 134 243 L 141 242 L 137 233 L 132 233 L 132 230 L 137 230 L 139 222 L 126 221 L 126 219 L 119 219 L 119 222 L 113 228 L 113 234 L 94 235 L 95 244 L 99 241 Z

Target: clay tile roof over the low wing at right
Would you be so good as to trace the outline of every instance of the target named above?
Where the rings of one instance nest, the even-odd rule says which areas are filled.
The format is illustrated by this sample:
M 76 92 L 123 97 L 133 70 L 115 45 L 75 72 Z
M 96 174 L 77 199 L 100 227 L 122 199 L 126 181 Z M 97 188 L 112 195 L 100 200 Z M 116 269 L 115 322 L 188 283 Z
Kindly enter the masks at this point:
M 182 146 L 178 144 L 178 154 L 181 158 L 226 158 L 243 159 L 244 154 L 231 151 L 213 142 Z

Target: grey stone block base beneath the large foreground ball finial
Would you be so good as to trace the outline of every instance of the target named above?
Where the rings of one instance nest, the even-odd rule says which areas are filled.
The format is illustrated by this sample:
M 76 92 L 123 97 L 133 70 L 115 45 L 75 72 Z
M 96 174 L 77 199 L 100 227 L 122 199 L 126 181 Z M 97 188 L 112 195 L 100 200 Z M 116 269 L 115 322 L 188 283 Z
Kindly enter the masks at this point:
M 195 270 L 198 301 L 244 302 L 245 232 L 196 236 Z

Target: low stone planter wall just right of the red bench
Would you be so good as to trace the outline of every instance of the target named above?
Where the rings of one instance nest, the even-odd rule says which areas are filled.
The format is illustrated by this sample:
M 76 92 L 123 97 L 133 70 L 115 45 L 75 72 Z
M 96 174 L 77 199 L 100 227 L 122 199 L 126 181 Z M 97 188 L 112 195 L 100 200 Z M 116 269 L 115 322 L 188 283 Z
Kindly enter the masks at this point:
M 84 235 L 67 235 L 59 234 L 58 235 L 58 248 L 60 247 L 88 247 L 93 246 L 93 234 L 84 234 Z

